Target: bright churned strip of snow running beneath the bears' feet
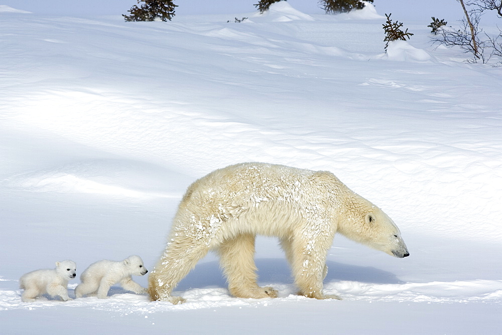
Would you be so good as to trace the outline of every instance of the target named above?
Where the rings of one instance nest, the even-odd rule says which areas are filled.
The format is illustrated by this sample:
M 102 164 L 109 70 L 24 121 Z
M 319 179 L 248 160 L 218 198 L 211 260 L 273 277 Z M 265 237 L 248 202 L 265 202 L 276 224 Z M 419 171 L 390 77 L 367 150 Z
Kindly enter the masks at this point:
M 268 284 L 267 284 L 268 285 Z M 74 288 L 76 284 L 69 287 Z M 39 301 L 25 303 L 21 301 L 19 290 L 0 290 L 0 309 L 39 309 L 39 308 L 71 308 L 90 307 L 98 310 L 117 313 L 147 314 L 168 310 L 194 310 L 217 307 L 265 307 L 291 303 L 302 303 L 309 298 L 295 294 L 294 285 L 272 284 L 279 291 L 275 299 L 242 299 L 229 295 L 226 288 L 193 288 L 182 294 L 186 303 L 173 305 L 165 302 L 151 302 L 146 294 L 131 294 L 119 287 L 112 287 L 107 299 L 96 297 L 79 298 L 61 302 L 42 298 Z M 363 301 L 398 301 L 398 302 L 490 302 L 502 304 L 502 280 L 466 280 L 453 282 L 428 282 L 404 284 L 372 284 L 354 281 L 327 283 L 325 292 L 339 294 L 343 300 Z M 74 297 L 73 289 L 69 289 L 70 297 Z M 343 304 L 333 301 L 332 303 Z

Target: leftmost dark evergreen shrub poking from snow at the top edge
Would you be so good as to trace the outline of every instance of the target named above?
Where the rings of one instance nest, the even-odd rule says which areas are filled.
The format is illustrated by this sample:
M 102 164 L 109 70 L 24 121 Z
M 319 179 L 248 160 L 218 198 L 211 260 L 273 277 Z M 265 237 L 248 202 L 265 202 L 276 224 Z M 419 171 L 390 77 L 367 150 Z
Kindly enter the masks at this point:
M 172 0 L 138 0 L 138 4 L 145 3 L 138 7 L 134 5 L 128 11 L 130 16 L 123 15 L 124 19 L 130 21 L 171 21 L 174 16 L 174 8 L 178 7 L 173 4 Z

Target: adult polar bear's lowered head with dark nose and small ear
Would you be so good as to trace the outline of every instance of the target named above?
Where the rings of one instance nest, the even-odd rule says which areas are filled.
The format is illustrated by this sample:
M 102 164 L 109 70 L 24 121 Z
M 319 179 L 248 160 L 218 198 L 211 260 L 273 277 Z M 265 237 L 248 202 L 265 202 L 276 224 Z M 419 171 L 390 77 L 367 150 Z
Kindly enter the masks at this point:
M 370 205 L 352 213 L 338 225 L 338 231 L 351 240 L 362 243 L 391 256 L 410 256 L 401 232 L 394 221 L 380 208 Z M 353 216 L 353 217 L 352 217 Z

